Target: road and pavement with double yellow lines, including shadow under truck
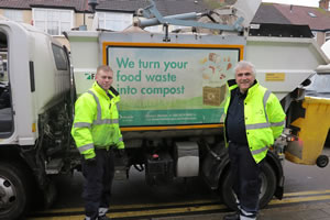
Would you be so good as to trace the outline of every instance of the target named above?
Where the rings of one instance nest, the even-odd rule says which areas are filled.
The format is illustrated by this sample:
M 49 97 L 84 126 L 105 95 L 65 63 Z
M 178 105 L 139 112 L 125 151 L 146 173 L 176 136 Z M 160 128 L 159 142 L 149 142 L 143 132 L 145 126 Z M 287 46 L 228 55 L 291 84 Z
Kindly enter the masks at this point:
M 324 148 L 324 154 L 330 156 L 330 147 Z M 330 220 L 330 165 L 319 168 L 286 161 L 284 170 L 284 199 L 272 200 L 258 219 Z M 132 174 L 129 182 L 113 185 L 111 211 L 108 213 L 113 219 L 208 220 L 222 219 L 230 211 L 199 178 L 148 187 L 143 174 Z M 74 178 L 58 179 L 57 186 L 58 198 L 52 209 L 31 213 L 29 220 L 84 219 L 80 173 L 75 173 Z

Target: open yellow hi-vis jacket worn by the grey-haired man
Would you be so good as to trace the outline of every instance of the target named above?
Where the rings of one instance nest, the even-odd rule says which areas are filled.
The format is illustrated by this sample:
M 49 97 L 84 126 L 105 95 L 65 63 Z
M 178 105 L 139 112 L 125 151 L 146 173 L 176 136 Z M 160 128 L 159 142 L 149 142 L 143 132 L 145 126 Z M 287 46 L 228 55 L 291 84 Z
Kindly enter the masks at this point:
M 235 80 L 229 80 L 228 87 L 229 96 L 224 105 L 226 116 L 232 91 L 238 88 L 238 85 Z M 274 140 L 282 134 L 285 113 L 277 97 L 258 82 L 248 90 L 244 100 L 244 121 L 251 154 L 254 161 L 260 163 L 266 156 L 268 147 L 274 144 Z M 224 135 L 228 140 L 227 132 L 224 132 Z M 228 146 L 228 143 L 226 143 L 226 146 Z

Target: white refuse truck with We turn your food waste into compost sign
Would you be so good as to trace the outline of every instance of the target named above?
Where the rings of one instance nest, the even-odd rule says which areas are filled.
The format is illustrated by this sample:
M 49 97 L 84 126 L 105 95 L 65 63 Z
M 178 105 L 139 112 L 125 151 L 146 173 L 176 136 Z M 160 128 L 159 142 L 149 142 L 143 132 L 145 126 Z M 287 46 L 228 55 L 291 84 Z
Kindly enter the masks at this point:
M 7 66 L 0 74 L 0 219 L 24 215 L 36 198 L 35 189 L 50 204 L 52 178 L 80 170 L 80 155 L 70 139 L 73 105 L 76 94 L 91 86 L 101 64 L 113 68 L 113 87 L 122 100 L 125 156 L 116 164 L 117 178 L 127 178 L 130 167 L 144 172 L 150 185 L 200 176 L 229 207 L 234 200 L 223 142 L 224 85 L 240 59 L 255 64 L 257 80 L 276 94 L 287 112 L 286 132 L 268 151 L 261 174 L 261 206 L 273 196 L 280 199 L 280 162 L 288 138 L 299 139 L 290 123 L 304 117 L 292 111 L 293 103 L 304 100 L 301 84 L 328 58 L 306 26 L 249 26 L 250 21 L 223 25 L 229 34 L 217 35 L 72 31 L 66 33 L 69 59 L 67 50 L 50 35 L 1 20 L 0 55 Z M 280 36 L 279 28 L 285 32 Z M 295 147 L 305 146 L 294 144 L 292 152 Z

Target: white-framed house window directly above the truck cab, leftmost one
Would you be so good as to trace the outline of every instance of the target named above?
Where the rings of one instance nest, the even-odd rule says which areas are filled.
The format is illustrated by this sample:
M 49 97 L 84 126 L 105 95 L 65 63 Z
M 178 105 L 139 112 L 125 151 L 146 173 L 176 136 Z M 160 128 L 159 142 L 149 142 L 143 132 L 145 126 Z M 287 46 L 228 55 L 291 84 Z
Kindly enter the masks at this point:
M 73 10 L 32 9 L 34 25 L 51 35 L 69 31 L 74 23 Z

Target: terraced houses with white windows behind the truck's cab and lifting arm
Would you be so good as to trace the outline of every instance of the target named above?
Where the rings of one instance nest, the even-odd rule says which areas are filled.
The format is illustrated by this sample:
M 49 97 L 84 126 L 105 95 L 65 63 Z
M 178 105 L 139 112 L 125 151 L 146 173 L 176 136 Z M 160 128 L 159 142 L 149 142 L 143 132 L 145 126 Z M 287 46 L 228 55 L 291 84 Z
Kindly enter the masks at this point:
M 150 4 L 146 0 L 98 0 L 98 3 L 94 16 L 88 0 L 1 0 L 0 15 L 30 23 L 66 43 L 62 33 L 72 29 L 121 31 L 132 24 L 138 9 Z M 163 15 L 208 10 L 208 0 L 155 0 L 155 3 Z M 150 29 L 162 31 L 161 26 Z

